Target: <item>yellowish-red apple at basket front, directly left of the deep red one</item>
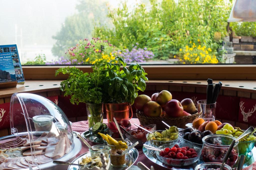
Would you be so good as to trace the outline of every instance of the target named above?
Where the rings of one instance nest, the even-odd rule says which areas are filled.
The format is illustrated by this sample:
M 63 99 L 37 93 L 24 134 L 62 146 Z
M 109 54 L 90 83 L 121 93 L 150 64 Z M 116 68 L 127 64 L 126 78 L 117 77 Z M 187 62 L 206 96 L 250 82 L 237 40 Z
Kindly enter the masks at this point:
M 159 117 L 162 113 L 162 107 L 155 101 L 149 101 L 144 105 L 143 112 L 146 116 Z

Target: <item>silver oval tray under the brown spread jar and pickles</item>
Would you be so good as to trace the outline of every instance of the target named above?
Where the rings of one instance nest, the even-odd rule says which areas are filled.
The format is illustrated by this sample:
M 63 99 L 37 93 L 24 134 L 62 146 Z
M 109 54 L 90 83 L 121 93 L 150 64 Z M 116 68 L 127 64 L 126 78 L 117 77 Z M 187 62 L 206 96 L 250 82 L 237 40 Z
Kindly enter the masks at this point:
M 127 156 L 126 156 L 126 160 L 128 160 L 128 161 L 126 161 L 126 166 L 125 167 L 113 168 L 110 165 L 109 170 L 125 170 L 125 169 L 129 169 L 134 164 L 134 162 L 136 162 L 136 160 L 138 158 L 138 155 L 139 155 L 138 150 L 136 148 L 132 148 L 129 151 L 129 154 L 127 154 Z M 91 156 L 91 153 L 90 152 L 86 152 L 86 153 L 78 156 L 72 163 L 79 164 L 78 161 L 81 160 L 82 158 L 85 158 L 85 156 Z M 110 161 L 110 158 L 109 158 L 109 161 Z M 68 170 L 78 170 L 78 169 L 79 169 L 79 167 L 75 166 L 75 165 L 70 165 L 68 167 Z

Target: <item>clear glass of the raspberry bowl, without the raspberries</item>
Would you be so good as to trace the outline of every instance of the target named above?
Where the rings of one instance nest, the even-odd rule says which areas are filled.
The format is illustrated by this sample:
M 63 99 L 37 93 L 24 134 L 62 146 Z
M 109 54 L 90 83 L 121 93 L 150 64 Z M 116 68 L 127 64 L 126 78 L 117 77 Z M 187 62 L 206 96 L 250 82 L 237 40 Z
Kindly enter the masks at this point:
M 169 143 L 169 144 L 164 144 L 162 146 L 159 146 L 158 148 L 163 150 L 164 148 L 172 148 L 176 144 L 179 145 L 180 148 L 188 146 L 189 148 L 195 149 L 198 156 L 195 158 L 189 158 L 189 159 L 169 159 L 169 158 L 164 158 L 163 156 L 160 156 L 159 155 L 160 151 L 155 151 L 157 158 L 162 163 L 171 165 L 171 166 L 188 166 L 199 160 L 201 155 L 201 149 L 189 143 Z

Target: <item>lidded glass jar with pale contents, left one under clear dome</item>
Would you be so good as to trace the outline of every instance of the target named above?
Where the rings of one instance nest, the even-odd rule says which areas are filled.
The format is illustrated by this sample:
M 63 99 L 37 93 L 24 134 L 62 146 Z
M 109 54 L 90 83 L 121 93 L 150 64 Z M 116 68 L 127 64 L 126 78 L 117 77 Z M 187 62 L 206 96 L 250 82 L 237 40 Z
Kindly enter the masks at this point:
M 50 115 L 38 115 L 33 117 L 36 131 L 50 132 L 54 117 Z

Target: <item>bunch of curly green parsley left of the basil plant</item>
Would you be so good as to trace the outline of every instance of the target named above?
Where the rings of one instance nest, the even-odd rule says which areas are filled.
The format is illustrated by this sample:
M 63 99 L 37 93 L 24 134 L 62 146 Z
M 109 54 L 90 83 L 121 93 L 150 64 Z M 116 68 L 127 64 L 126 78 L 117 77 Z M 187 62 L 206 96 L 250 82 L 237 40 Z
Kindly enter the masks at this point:
M 103 91 L 103 85 L 106 76 L 102 74 L 103 68 L 101 63 L 96 62 L 92 73 L 83 73 L 80 69 L 75 67 L 59 68 L 55 76 L 59 73 L 68 74 L 67 80 L 60 83 L 60 89 L 65 92 L 64 96 L 71 96 L 70 102 L 72 104 L 82 103 L 101 103 L 106 98 Z

